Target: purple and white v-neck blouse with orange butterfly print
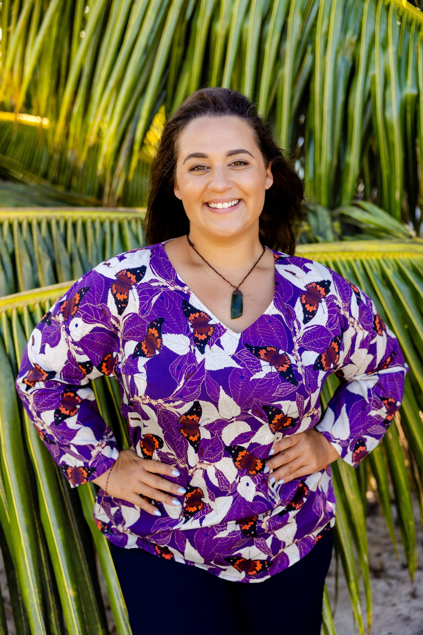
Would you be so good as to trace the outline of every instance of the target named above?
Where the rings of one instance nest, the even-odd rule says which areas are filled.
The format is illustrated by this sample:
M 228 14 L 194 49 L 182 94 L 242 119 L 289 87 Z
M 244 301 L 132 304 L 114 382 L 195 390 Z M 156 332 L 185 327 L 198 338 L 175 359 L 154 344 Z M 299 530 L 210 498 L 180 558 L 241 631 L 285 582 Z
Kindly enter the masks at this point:
M 303 558 L 334 525 L 330 467 L 270 486 L 273 443 L 311 427 L 349 465 L 381 441 L 407 364 L 354 284 L 273 251 L 275 296 L 241 333 L 179 278 L 163 243 L 128 251 L 79 279 L 36 326 L 16 387 L 72 486 L 119 455 L 89 380 L 110 377 L 140 457 L 178 467 L 181 505 L 153 516 L 107 495 L 94 518 L 127 549 L 261 582 Z M 322 417 L 329 373 L 341 383 Z

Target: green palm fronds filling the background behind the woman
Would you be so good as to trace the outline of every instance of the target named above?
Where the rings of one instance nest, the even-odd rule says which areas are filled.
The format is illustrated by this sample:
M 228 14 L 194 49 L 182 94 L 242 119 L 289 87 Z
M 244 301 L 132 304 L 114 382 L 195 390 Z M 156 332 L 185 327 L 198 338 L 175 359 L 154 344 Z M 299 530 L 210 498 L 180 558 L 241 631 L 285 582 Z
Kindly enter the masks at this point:
M 299 255 L 374 298 L 405 352 L 405 399 L 383 443 L 356 471 L 333 466 L 335 558 L 364 634 L 373 491 L 413 578 L 416 500 L 423 518 L 422 10 L 423 0 L 0 1 L 0 548 L 19 634 L 130 633 L 93 524 L 95 488 L 70 492 L 13 380 L 32 328 L 71 281 L 144 244 L 160 133 L 201 86 L 240 90 L 269 118 L 306 185 Z M 116 382 L 92 387 L 125 447 Z M 335 634 L 327 594 L 323 632 Z

